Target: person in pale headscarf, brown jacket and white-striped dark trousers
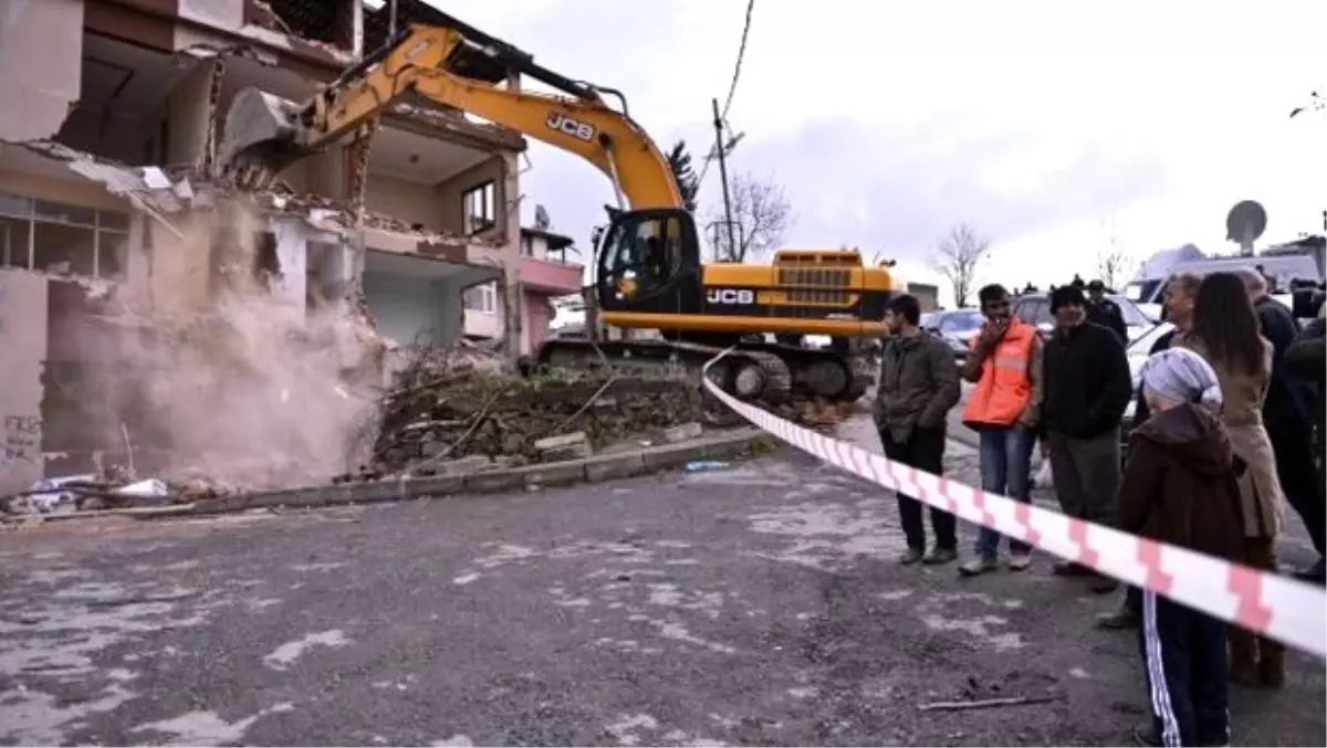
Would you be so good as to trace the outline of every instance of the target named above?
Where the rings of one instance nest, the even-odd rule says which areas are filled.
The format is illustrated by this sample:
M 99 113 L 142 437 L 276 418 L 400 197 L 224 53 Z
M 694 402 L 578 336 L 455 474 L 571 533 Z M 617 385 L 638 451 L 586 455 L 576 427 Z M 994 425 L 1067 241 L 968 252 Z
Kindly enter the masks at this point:
M 1152 416 L 1129 443 L 1120 487 L 1120 529 L 1218 558 L 1243 545 L 1238 460 L 1222 427 L 1221 386 L 1186 349 L 1148 357 L 1140 374 Z M 1143 660 L 1152 721 L 1144 747 L 1229 745 L 1226 626 L 1143 592 Z

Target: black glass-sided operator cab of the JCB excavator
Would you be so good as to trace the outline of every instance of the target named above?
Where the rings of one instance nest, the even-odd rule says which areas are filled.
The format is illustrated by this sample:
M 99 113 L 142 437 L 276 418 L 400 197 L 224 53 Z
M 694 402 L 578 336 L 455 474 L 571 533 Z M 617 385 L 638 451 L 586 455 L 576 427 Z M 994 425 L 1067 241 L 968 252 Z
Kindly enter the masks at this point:
M 685 210 L 612 211 L 596 269 L 598 304 L 606 312 L 701 309 L 701 245 Z

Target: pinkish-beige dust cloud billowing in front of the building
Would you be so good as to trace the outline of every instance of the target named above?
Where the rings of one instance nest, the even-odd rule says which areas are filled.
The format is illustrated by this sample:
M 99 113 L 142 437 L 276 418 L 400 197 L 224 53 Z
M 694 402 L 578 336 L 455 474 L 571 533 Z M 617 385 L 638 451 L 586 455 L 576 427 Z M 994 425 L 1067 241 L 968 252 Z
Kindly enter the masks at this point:
M 154 227 L 150 277 L 117 289 L 138 334 L 119 336 L 109 382 L 154 475 L 263 489 L 366 462 L 385 355 L 366 316 L 340 298 L 307 309 L 273 293 L 265 223 L 242 198 L 171 224 L 183 239 Z

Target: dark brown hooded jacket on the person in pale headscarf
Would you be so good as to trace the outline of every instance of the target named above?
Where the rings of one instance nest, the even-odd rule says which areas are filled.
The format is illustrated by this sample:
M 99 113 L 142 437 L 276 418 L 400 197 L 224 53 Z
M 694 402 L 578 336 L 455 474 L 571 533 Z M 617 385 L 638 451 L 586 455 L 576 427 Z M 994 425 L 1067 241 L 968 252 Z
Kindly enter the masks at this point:
M 1120 484 L 1120 529 L 1235 560 L 1243 520 L 1234 456 L 1220 418 L 1185 403 L 1133 431 Z

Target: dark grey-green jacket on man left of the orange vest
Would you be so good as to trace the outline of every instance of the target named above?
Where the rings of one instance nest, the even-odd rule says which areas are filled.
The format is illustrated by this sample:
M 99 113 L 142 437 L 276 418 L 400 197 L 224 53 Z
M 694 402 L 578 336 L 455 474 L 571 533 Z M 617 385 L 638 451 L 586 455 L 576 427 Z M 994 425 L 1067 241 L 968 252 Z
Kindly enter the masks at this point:
M 943 426 L 961 397 L 958 363 L 943 341 L 926 330 L 885 341 L 874 406 L 878 428 Z

